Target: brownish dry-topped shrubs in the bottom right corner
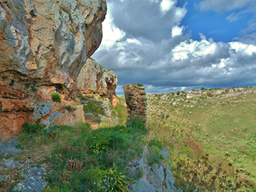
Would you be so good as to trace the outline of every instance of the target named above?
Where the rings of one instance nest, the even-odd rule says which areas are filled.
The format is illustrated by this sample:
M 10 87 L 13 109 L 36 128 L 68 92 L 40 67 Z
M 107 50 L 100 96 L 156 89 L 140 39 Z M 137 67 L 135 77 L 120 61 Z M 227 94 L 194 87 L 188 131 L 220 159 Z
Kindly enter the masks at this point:
M 228 163 L 228 171 L 222 168 L 223 164 L 230 155 L 226 154 L 225 159 L 215 166 L 208 159 L 208 154 L 202 156 L 201 159 L 191 161 L 177 161 L 175 166 L 174 177 L 176 178 L 176 186 L 183 191 L 238 191 L 248 187 L 247 176 L 242 169 L 238 170 L 233 164 Z M 234 160 L 235 161 L 235 160 Z M 242 178 L 242 175 L 246 175 Z M 247 191 L 247 190 L 245 190 Z

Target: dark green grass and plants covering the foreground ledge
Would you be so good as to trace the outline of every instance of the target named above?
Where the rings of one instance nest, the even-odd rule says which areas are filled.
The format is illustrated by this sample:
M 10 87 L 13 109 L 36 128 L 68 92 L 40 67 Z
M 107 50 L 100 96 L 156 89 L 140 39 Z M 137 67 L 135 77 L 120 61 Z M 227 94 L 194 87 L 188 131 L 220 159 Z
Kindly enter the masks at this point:
M 21 142 L 19 148 L 28 150 L 9 157 L 19 161 L 30 158 L 31 164 L 48 165 L 46 191 L 128 191 L 128 186 L 138 179 L 129 175 L 128 162 L 138 159 L 147 144 L 142 134 L 146 129 L 139 119 L 129 126 L 95 130 L 82 122 L 75 127 L 55 125 L 48 129 L 26 123 L 17 139 Z M 154 158 L 158 160 L 158 156 Z M 22 181 L 15 170 L 11 172 L 15 182 L 3 183 L 4 191 Z

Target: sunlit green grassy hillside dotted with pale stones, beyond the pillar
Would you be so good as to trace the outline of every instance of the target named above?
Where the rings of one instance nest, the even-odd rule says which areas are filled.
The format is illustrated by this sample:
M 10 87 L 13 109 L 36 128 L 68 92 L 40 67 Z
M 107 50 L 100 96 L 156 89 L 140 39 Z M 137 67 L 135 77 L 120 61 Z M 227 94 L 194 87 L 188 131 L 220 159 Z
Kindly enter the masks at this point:
M 147 95 L 150 137 L 159 127 L 158 139 L 170 149 L 173 164 L 203 154 L 218 164 L 229 154 L 236 168 L 250 172 L 256 188 L 256 93 L 208 97 L 198 92 L 189 99 L 186 92 Z

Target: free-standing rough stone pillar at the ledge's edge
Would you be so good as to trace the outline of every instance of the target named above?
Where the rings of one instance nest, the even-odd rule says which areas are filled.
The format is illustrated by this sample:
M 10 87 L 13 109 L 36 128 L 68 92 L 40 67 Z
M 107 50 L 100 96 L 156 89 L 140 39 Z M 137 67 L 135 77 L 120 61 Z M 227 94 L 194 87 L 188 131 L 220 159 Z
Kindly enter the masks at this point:
M 124 96 L 127 103 L 127 123 L 131 117 L 139 117 L 147 127 L 146 90 L 144 86 L 124 85 Z

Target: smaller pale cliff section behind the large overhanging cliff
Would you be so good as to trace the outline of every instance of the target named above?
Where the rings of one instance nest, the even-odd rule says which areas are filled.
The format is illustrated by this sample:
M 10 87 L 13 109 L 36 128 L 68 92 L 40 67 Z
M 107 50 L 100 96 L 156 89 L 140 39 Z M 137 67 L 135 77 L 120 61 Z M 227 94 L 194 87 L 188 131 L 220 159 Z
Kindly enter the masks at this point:
M 94 59 L 88 58 L 78 75 L 78 89 L 82 94 L 98 93 L 107 97 L 111 105 L 118 105 L 115 90 L 117 75 L 112 70 L 106 70 Z

